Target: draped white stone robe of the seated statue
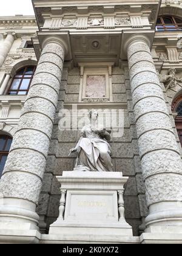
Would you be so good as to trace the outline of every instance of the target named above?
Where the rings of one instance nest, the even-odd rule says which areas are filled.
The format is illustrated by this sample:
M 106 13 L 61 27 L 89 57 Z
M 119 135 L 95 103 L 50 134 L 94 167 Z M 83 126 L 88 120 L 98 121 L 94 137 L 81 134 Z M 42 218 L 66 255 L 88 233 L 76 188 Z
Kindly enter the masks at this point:
M 76 166 L 87 166 L 90 171 L 112 171 L 109 143 L 87 126 L 81 130 L 81 137 L 83 137 L 79 141 L 81 151 Z

